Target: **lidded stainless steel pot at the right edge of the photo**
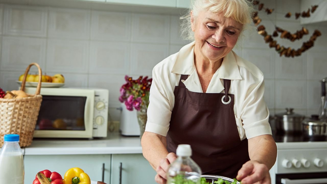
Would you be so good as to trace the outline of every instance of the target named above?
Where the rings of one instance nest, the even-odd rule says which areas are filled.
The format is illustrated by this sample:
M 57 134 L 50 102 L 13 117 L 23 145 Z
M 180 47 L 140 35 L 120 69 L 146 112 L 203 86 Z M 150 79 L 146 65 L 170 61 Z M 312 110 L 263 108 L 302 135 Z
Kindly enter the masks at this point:
M 318 115 L 302 121 L 303 135 L 308 137 L 327 136 L 327 123 L 319 120 Z

